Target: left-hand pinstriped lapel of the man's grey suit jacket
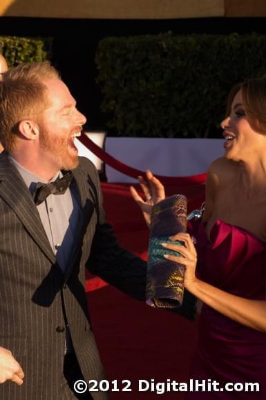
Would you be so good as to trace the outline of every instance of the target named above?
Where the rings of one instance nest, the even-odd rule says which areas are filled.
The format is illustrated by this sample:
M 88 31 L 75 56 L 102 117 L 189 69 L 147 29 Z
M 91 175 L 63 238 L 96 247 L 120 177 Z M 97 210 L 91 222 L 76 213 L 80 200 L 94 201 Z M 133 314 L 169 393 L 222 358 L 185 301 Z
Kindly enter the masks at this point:
M 0 156 L 0 197 L 17 214 L 30 237 L 54 264 L 55 254 L 50 247 L 30 190 L 5 152 Z

